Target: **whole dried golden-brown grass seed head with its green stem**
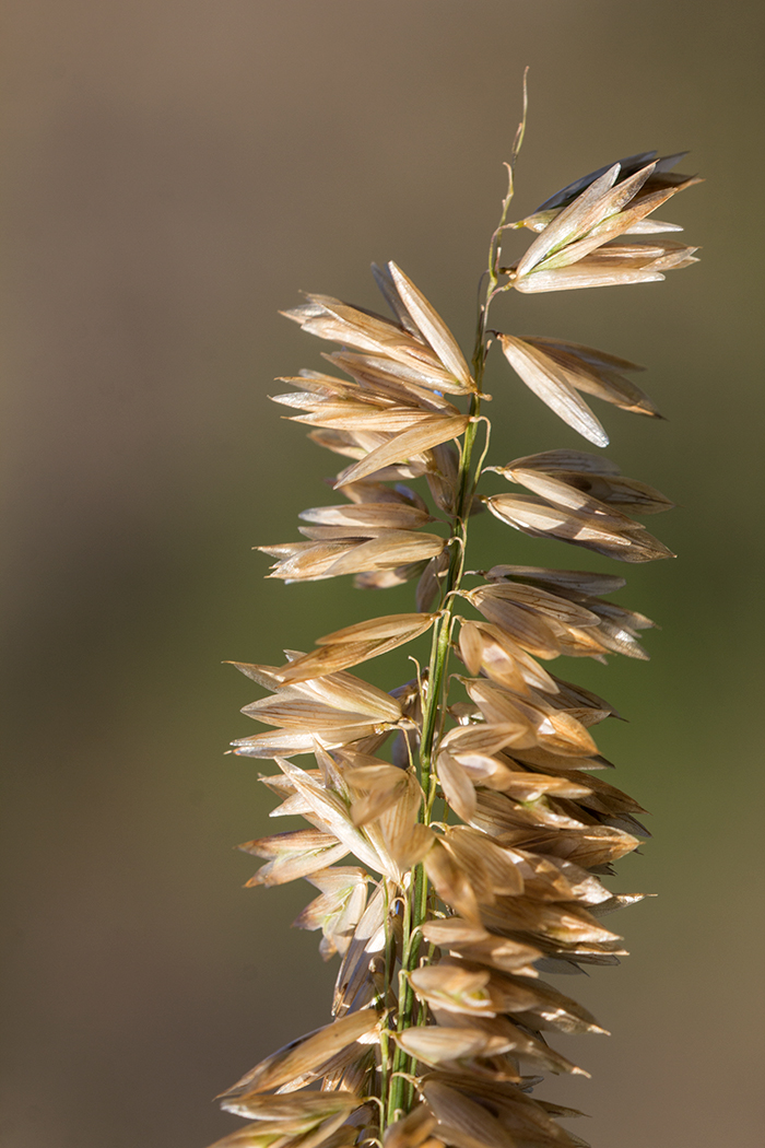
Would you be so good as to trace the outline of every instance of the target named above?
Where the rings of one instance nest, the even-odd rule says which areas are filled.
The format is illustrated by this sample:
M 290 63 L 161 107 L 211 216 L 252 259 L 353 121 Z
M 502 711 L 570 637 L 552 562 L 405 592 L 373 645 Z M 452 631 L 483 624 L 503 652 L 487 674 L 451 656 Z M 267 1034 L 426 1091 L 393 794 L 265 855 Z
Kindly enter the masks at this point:
M 299 513 L 300 541 L 258 548 L 275 559 L 270 576 L 348 574 L 370 590 L 416 579 L 415 610 L 343 626 L 309 652 L 284 651 L 280 666 L 234 664 L 265 691 L 243 713 L 268 727 L 234 752 L 273 760 L 278 771 L 261 778 L 280 802 L 272 816 L 303 819 L 240 846 L 264 862 L 247 884 L 307 881 L 312 899 L 295 925 L 319 933 L 320 954 L 339 968 L 335 1019 L 223 1094 L 251 1123 L 217 1148 L 584 1145 L 557 1123 L 576 1110 L 530 1092 L 539 1072 L 587 1075 L 549 1047 L 549 1033 L 606 1030 L 544 977 L 625 954 L 603 917 L 642 894 L 604 879 L 648 835 L 641 806 L 602 776 L 612 766 L 593 732 L 619 714 L 553 662 L 645 660 L 640 636 L 654 623 L 612 600 L 622 577 L 523 565 L 522 540 L 518 561 L 470 572 L 468 528 L 485 507 L 521 534 L 643 563 L 671 551 L 633 515 L 671 503 L 575 449 L 483 465 L 494 340 L 514 375 L 598 447 L 608 437 L 583 396 L 661 417 L 629 378 L 635 364 L 492 332 L 487 317 L 512 289 L 651 281 L 695 262 L 695 248 L 665 238 L 677 225 L 650 215 L 696 180 L 672 172 L 680 156 L 631 156 L 509 224 L 522 137 L 523 125 L 470 364 L 395 263 L 373 267 L 391 318 L 327 295 L 284 312 L 338 347 L 323 355 L 333 373 L 284 378 L 292 389 L 274 401 L 344 463 L 328 480 L 336 501 Z M 520 227 L 534 239 L 502 267 L 502 236 Z M 478 492 L 486 473 L 523 492 Z M 349 673 L 423 635 L 430 659 L 409 681 L 387 690 Z

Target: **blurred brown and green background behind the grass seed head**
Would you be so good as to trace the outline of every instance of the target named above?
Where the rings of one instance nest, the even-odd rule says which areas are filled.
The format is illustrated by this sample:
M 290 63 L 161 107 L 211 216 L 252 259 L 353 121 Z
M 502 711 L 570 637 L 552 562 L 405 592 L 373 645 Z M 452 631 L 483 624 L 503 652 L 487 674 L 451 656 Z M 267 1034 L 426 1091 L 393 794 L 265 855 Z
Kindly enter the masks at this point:
M 666 422 L 599 414 L 680 507 L 649 523 L 678 560 L 619 595 L 663 626 L 651 664 L 565 667 L 630 719 L 600 742 L 655 837 L 611 884 L 659 898 L 622 916 L 622 968 L 555 982 L 614 1035 L 561 1038 L 593 1080 L 541 1095 L 599 1148 L 754 1145 L 762 5 L 11 0 L 5 25 L 3 1148 L 204 1148 L 241 1123 L 211 1097 L 328 1018 L 335 969 L 288 928 L 313 891 L 241 887 L 232 847 L 274 802 L 224 755 L 260 727 L 220 662 L 411 599 L 263 581 L 250 548 L 297 537 L 337 468 L 266 400 L 325 349 L 276 311 L 299 289 L 375 308 L 369 262 L 395 258 L 469 347 L 525 64 L 516 215 L 650 148 L 708 180 L 659 211 L 698 266 L 493 312 L 649 367 Z M 586 447 L 499 358 L 487 388 L 494 461 Z M 615 569 L 493 520 L 474 537 Z

